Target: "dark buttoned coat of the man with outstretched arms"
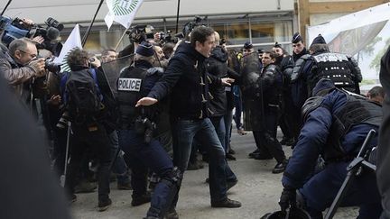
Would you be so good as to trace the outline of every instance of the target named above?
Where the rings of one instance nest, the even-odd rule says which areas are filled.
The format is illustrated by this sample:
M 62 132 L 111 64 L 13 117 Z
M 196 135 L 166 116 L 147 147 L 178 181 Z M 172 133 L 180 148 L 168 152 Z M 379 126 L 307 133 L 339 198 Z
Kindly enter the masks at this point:
M 152 88 L 149 97 L 161 100 L 171 93 L 173 118 L 200 119 L 209 116 L 209 83 L 220 80 L 207 77 L 205 57 L 189 43 L 181 42 L 168 68 Z

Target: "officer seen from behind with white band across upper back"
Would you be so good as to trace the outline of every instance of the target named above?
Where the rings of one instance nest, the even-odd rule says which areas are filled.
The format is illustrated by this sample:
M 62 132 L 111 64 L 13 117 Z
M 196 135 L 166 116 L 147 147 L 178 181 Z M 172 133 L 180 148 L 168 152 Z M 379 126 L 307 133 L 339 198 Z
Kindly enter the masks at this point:
M 360 94 L 362 76 L 357 61 L 346 54 L 330 52 L 319 35 L 311 43 L 309 55 L 303 55 L 292 70 L 292 101 L 302 107 L 320 78 L 330 78 L 336 87 Z

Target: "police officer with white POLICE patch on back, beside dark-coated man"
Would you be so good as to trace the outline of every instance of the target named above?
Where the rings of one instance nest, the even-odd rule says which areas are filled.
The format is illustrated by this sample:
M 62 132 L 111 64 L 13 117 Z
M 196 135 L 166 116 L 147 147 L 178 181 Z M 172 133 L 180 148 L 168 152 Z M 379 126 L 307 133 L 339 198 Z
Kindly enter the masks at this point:
M 181 172 L 154 139 L 159 117 L 159 105 L 135 107 L 162 76 L 162 68 L 153 68 L 153 46 L 142 42 L 135 52 L 135 67 L 126 68 L 117 82 L 120 112 L 119 143 L 128 155 L 132 169 L 132 205 L 151 201 L 146 218 L 163 218 L 181 185 Z M 147 170 L 151 169 L 162 180 L 154 188 L 153 196 L 146 191 Z

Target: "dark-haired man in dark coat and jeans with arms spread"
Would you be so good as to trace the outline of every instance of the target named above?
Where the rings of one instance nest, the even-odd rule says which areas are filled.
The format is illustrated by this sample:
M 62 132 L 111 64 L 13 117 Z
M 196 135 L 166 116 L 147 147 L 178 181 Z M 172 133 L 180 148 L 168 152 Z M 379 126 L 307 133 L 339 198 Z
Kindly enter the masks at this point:
M 209 153 L 211 206 L 240 207 L 241 203 L 228 199 L 225 151 L 208 118 L 209 83 L 213 81 L 207 77 L 205 59 L 209 57 L 214 43 L 214 30 L 195 28 L 190 34 L 190 43 L 181 42 L 163 78 L 137 105 L 153 105 L 171 93 L 174 164 L 181 172 L 187 169 L 191 144 L 196 137 Z M 229 82 L 232 82 L 230 78 L 220 78 L 214 83 L 229 85 Z

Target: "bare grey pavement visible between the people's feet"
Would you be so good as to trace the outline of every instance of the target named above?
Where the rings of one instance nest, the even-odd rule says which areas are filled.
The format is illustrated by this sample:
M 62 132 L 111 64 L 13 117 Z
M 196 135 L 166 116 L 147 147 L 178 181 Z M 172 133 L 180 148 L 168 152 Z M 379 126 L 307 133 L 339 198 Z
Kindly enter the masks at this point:
M 279 131 L 280 133 L 280 131 Z M 279 134 L 280 135 L 280 134 Z M 278 136 L 281 139 L 281 136 Z M 240 201 L 240 208 L 211 208 L 209 200 L 208 165 L 204 169 L 186 171 L 181 186 L 179 203 L 176 208 L 180 218 L 185 219 L 237 219 L 260 218 L 266 213 L 279 210 L 277 204 L 282 192 L 282 174 L 272 174 L 275 160 L 248 159 L 247 154 L 255 150 L 252 132 L 238 135 L 232 133 L 232 147 L 236 151 L 237 160 L 228 161 L 236 173 L 238 183 L 228 191 L 231 199 Z M 286 156 L 291 156 L 290 147 L 283 146 Z M 77 202 L 71 205 L 71 211 L 76 219 L 133 219 L 143 218 L 149 204 L 132 206 L 131 192 L 117 190 L 116 183 L 111 185 L 113 205 L 106 212 L 97 211 L 98 194 L 78 194 Z M 356 218 L 357 207 L 339 208 L 334 218 Z

